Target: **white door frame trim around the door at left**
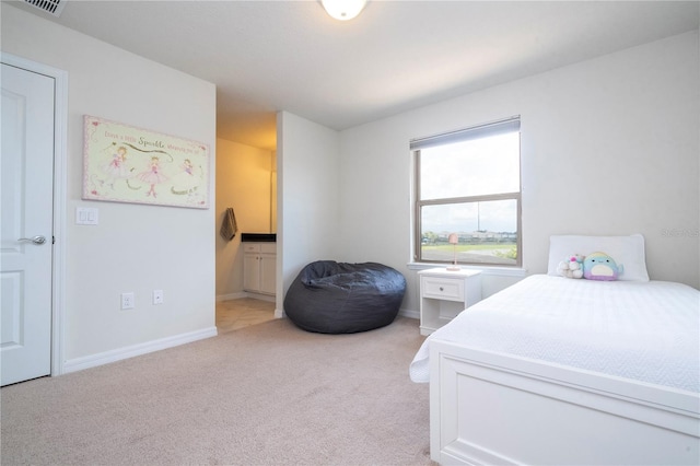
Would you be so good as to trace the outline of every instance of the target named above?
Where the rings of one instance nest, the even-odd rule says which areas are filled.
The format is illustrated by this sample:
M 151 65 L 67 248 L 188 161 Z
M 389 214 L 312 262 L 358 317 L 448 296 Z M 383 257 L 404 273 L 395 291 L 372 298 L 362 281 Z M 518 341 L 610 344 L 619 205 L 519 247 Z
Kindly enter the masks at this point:
M 51 375 L 63 373 L 66 308 L 66 164 L 68 154 L 68 72 L 0 51 L 0 61 L 54 79 L 54 268 L 51 310 Z

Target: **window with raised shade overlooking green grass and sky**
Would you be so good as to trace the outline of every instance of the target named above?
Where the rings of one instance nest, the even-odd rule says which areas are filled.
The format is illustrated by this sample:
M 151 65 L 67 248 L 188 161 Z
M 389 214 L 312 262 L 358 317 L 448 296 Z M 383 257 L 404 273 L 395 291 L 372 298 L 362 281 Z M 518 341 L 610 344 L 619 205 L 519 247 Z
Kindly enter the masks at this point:
M 522 264 L 520 126 L 514 117 L 411 141 L 417 261 Z

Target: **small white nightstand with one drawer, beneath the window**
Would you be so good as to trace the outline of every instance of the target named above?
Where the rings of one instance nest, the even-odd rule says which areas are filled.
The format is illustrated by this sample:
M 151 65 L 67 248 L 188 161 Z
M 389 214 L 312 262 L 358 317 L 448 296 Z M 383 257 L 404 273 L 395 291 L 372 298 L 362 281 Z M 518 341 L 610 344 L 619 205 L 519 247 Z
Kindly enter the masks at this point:
M 481 270 L 428 269 L 420 279 L 420 334 L 430 335 L 481 301 Z

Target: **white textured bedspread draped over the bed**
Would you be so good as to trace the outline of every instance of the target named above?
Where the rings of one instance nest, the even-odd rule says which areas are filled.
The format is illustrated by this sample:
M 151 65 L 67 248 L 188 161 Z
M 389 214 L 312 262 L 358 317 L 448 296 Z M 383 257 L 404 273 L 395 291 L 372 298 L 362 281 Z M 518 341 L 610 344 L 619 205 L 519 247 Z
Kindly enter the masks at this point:
M 463 311 L 410 364 L 429 382 L 434 339 L 700 392 L 700 292 L 664 281 L 530 276 Z

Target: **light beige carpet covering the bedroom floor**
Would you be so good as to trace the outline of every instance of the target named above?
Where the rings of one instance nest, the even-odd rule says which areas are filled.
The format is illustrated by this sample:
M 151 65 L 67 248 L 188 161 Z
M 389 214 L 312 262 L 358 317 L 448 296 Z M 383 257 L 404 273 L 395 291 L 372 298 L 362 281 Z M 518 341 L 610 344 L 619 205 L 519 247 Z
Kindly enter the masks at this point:
M 415 319 L 288 319 L 0 391 L 2 465 L 430 465 Z

